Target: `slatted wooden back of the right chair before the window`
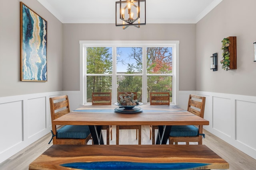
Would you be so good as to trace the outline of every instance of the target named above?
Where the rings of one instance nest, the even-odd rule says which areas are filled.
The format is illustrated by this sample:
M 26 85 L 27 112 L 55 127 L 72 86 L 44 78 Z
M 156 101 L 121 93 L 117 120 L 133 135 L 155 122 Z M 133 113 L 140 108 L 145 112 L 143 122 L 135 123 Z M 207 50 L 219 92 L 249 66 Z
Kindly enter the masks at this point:
M 150 92 L 150 105 L 170 105 L 170 93 Z

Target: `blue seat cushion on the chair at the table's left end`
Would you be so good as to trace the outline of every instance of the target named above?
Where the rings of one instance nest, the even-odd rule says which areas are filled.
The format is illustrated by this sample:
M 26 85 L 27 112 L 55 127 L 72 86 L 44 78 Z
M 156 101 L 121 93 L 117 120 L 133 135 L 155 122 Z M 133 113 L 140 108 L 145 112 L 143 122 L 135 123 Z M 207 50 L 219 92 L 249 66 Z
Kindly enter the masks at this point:
M 57 138 L 86 139 L 90 135 L 88 125 L 65 125 L 57 130 Z

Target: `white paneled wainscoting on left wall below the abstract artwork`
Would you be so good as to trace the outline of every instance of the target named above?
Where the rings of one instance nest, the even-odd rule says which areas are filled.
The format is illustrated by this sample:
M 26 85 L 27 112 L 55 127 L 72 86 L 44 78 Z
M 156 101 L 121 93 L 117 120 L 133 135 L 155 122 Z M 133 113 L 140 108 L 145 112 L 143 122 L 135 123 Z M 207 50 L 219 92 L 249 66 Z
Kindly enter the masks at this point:
M 0 98 L 0 163 L 52 129 L 49 98 L 63 92 Z

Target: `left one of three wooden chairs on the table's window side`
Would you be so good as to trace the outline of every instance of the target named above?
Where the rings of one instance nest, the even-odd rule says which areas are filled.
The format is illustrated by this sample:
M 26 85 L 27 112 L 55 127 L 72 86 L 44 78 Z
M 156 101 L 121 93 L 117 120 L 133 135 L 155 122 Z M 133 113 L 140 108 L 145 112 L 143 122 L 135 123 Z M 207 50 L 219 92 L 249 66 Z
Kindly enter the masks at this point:
M 92 105 L 111 105 L 111 92 L 94 92 L 92 93 Z M 102 125 L 102 130 L 107 131 L 107 145 L 109 145 L 109 133 L 112 140 L 112 125 Z

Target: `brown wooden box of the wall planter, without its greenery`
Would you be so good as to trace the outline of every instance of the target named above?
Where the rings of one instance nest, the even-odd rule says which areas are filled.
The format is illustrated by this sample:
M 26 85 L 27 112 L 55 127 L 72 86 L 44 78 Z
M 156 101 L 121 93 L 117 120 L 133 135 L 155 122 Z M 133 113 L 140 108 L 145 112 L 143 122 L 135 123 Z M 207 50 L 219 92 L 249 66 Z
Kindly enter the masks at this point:
M 236 69 L 236 37 L 227 37 L 230 41 L 230 46 L 228 47 L 228 51 L 230 53 L 230 69 Z

